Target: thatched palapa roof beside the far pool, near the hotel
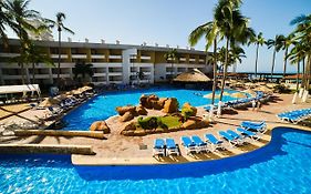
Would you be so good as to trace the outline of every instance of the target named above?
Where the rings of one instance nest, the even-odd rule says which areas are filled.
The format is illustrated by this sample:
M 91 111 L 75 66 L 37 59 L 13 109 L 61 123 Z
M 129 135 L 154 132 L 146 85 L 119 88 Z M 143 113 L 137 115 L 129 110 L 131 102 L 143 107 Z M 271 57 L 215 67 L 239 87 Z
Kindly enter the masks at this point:
M 209 82 L 211 81 L 206 74 L 204 74 L 198 69 L 193 69 L 177 75 L 174 81 L 176 82 Z

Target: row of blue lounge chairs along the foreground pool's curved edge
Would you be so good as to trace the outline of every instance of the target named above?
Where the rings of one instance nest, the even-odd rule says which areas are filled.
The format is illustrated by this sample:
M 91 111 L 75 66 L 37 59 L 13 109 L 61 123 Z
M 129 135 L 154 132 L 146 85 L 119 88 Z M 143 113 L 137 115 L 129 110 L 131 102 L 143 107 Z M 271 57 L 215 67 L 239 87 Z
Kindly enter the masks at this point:
M 265 121 L 260 123 L 245 121 L 241 123 L 241 127 L 237 127 L 236 131 L 219 131 L 219 139 L 209 133 L 205 134 L 205 141 L 203 141 L 198 135 L 184 135 L 180 137 L 180 143 L 185 147 L 187 154 L 215 152 L 218 149 L 225 150 L 225 142 L 229 143 L 229 145 L 234 147 L 236 145 L 247 143 L 247 139 L 257 141 L 266 131 L 267 124 Z M 155 140 L 153 156 L 169 156 L 174 154 L 180 155 L 179 146 L 175 143 L 174 139 Z

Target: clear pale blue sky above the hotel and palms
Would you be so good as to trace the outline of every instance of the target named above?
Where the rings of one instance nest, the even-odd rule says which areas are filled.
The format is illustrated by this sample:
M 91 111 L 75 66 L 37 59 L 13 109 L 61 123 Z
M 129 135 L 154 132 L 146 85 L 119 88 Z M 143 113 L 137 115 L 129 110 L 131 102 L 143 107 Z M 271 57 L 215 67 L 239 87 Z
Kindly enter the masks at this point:
M 64 12 L 64 24 L 75 32 L 63 33 L 63 40 L 107 43 L 120 40 L 122 44 L 186 48 L 189 33 L 198 25 L 212 20 L 217 0 L 31 0 L 29 8 L 42 17 L 55 19 L 56 12 Z M 300 14 L 311 13 L 311 0 L 245 0 L 242 14 L 250 19 L 250 27 L 262 32 L 266 39 L 276 34 L 288 34 L 294 27 L 290 21 Z M 55 30 L 54 40 L 58 39 Z M 10 37 L 14 37 L 9 32 Z M 196 50 L 205 49 L 200 40 Z M 211 50 L 211 49 L 210 49 Z M 245 48 L 246 59 L 237 71 L 253 71 L 256 47 Z M 276 72 L 282 72 L 283 51 L 277 54 Z M 270 72 L 272 50 L 260 48 L 258 71 Z M 294 72 L 296 67 L 289 65 Z

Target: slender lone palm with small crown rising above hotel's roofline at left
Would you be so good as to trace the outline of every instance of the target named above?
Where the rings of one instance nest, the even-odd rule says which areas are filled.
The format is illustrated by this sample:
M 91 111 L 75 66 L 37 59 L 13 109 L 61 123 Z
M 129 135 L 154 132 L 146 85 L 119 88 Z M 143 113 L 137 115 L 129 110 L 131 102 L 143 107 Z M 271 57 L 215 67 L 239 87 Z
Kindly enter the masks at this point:
M 65 13 L 62 12 L 58 12 L 56 13 L 56 21 L 53 20 L 45 20 L 46 23 L 50 23 L 49 27 L 50 28 L 58 28 L 58 32 L 59 32 L 59 64 L 58 64 L 58 81 L 60 81 L 60 74 L 61 74 L 61 47 L 62 47 L 62 31 L 66 31 L 70 32 L 71 34 L 74 34 L 74 32 L 66 28 L 64 25 L 64 20 L 65 20 L 66 16 Z

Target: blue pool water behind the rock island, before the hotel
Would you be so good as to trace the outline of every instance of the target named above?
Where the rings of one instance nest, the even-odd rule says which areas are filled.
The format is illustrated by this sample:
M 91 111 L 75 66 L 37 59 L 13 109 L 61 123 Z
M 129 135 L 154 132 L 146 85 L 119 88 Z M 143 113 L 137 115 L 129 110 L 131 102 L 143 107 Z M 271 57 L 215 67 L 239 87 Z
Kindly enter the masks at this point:
M 236 91 L 226 90 L 226 92 L 235 93 Z M 65 115 L 63 118 L 63 121 L 68 125 L 63 130 L 89 130 L 90 125 L 94 121 L 106 120 L 110 116 L 117 114 L 115 111 L 116 106 L 138 104 L 142 94 L 156 94 L 159 98 L 176 98 L 180 106 L 185 102 L 189 102 L 195 106 L 200 106 L 210 104 L 210 99 L 203 98 L 203 95 L 209 93 L 211 93 L 211 91 L 185 90 L 174 88 L 152 88 L 138 91 L 107 92 L 95 96 L 94 99 L 82 104 L 80 108 Z M 216 94 L 219 93 L 220 91 L 216 91 Z M 226 102 L 236 99 L 231 98 L 230 95 L 224 95 L 222 100 L 224 102 Z M 218 99 L 216 99 L 216 103 L 218 103 Z

